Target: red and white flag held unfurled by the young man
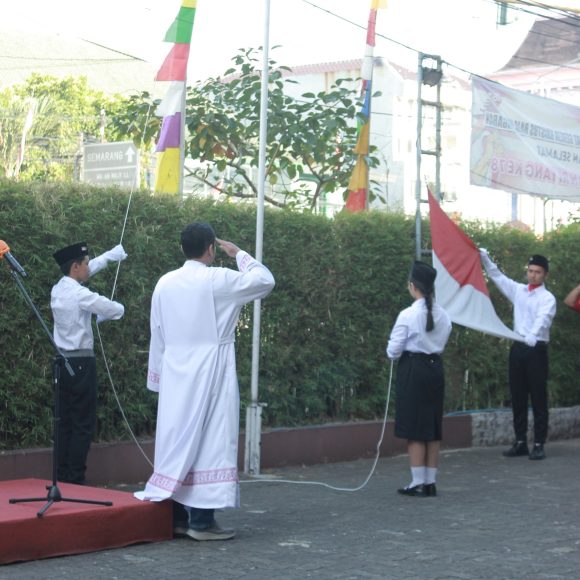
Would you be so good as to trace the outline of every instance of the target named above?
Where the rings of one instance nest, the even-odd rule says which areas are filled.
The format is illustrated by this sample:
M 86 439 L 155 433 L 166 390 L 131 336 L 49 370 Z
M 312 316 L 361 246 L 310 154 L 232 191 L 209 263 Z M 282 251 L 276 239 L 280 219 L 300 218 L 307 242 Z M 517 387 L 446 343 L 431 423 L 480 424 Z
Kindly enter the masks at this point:
M 437 302 L 451 321 L 498 338 L 523 341 L 496 314 L 481 269 L 479 249 L 429 192 Z

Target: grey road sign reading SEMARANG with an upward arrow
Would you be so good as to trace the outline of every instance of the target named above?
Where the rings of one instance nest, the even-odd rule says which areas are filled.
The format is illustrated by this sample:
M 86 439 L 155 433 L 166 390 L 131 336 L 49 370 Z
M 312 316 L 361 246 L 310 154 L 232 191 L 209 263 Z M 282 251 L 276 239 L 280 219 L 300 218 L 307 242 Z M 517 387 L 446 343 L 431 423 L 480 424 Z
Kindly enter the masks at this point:
M 84 146 L 82 181 L 139 187 L 139 151 L 131 141 Z

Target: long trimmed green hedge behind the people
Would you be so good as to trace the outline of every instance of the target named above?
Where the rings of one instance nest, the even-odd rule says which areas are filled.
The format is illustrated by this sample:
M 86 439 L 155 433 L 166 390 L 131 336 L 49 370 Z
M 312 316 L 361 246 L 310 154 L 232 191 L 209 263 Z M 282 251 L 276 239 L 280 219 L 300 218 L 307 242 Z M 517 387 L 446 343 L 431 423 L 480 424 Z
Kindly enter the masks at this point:
M 80 240 L 89 243 L 94 255 L 116 245 L 128 200 L 127 193 L 115 190 L 0 184 L 0 234 L 28 270 L 24 284 L 49 327 L 50 290 L 60 277 L 52 253 Z M 163 273 L 182 264 L 179 232 L 199 219 L 254 253 L 252 206 L 179 202 L 145 193 L 132 198 L 123 239 L 129 258 L 121 265 L 115 293 L 126 314 L 100 330 L 119 399 L 137 435 L 152 434 L 155 427 L 156 396 L 145 389 L 151 293 Z M 549 286 L 560 301 L 551 349 L 551 404 L 578 403 L 580 318 L 561 299 L 578 283 L 580 227 L 558 230 L 542 242 L 514 230 L 464 227 L 514 278 L 523 278 L 528 254 L 551 258 Z M 386 341 L 398 312 L 410 304 L 406 280 L 414 231 L 414 220 L 399 214 L 370 212 L 330 220 L 266 211 L 264 262 L 276 278 L 276 289 L 262 303 L 259 399 L 267 405 L 266 426 L 381 416 L 389 370 Z M 427 223 L 424 232 L 428 240 Z M 233 266 L 233 261 L 223 258 L 222 264 Z M 52 347 L 7 268 L 0 266 L 0 448 L 48 445 Z M 114 278 L 110 266 L 90 287 L 110 296 Z M 511 324 L 509 303 L 495 288 L 492 296 Z M 244 402 L 250 390 L 252 313 L 252 305 L 244 309 L 236 342 Z M 508 349 L 508 341 L 454 327 L 445 355 L 446 410 L 505 404 Z M 98 438 L 126 439 L 101 360 L 98 367 Z

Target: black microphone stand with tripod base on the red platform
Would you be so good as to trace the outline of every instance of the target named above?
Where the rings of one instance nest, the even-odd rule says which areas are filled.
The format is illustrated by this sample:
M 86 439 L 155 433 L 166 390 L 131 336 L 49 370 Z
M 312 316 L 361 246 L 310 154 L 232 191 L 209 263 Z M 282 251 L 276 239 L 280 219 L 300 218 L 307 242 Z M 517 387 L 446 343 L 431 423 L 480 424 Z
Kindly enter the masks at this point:
M 10 266 L 12 266 L 10 264 Z M 20 499 L 9 499 L 9 503 L 23 503 L 23 502 L 31 502 L 31 501 L 45 501 L 46 504 L 44 507 L 36 514 L 39 518 L 44 515 L 44 512 L 53 504 L 60 501 L 66 501 L 71 503 L 88 503 L 88 504 L 95 504 L 95 505 L 104 505 L 104 506 L 112 506 L 112 501 L 97 501 L 97 500 L 84 500 L 84 499 L 74 499 L 74 498 L 66 498 L 62 497 L 60 493 L 60 489 L 57 485 L 57 478 L 58 478 L 58 448 L 59 448 L 59 434 L 58 434 L 58 426 L 60 423 L 60 374 L 61 369 L 64 364 L 64 367 L 68 371 L 71 377 L 75 376 L 75 373 L 70 366 L 67 358 L 62 354 L 56 343 L 54 342 L 54 338 L 52 333 L 46 326 L 40 312 L 36 308 L 34 302 L 30 298 L 30 295 L 26 291 L 24 284 L 18 277 L 17 272 L 14 268 L 10 268 L 10 274 L 14 278 L 16 285 L 18 286 L 22 296 L 26 303 L 30 306 L 36 318 L 40 322 L 40 325 L 44 329 L 44 332 L 48 336 L 50 343 L 53 346 L 55 356 L 52 363 L 52 384 L 54 387 L 54 416 L 53 416 L 53 446 L 52 446 L 52 485 L 47 485 L 46 489 L 48 490 L 48 494 L 46 498 L 44 497 L 30 497 L 30 498 L 20 498 Z

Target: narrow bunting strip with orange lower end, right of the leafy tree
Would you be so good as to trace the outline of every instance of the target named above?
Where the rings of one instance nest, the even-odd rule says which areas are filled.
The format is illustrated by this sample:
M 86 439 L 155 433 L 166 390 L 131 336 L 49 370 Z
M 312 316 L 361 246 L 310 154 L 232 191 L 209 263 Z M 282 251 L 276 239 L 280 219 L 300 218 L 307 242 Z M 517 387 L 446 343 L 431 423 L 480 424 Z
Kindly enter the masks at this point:
M 375 48 L 377 10 L 387 7 L 387 0 L 371 0 L 371 11 L 367 26 L 367 45 L 361 68 L 363 104 L 358 120 L 358 137 L 354 153 L 356 163 L 348 181 L 346 209 L 363 211 L 367 207 L 369 167 L 367 157 L 370 144 L 371 87 L 373 78 L 373 54 Z

